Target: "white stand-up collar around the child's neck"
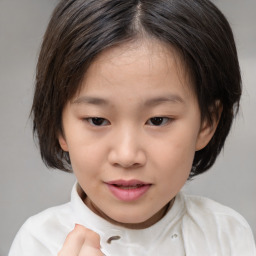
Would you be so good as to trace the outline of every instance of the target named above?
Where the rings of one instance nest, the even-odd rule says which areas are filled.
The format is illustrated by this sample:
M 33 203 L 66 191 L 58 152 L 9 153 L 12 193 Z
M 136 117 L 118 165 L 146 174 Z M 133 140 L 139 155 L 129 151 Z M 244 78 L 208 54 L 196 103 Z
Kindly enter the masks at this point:
M 101 244 L 108 246 L 110 243 L 136 244 L 138 241 L 144 246 L 154 243 L 156 237 L 163 235 L 164 230 L 170 230 L 184 212 L 184 200 L 178 193 L 175 202 L 167 214 L 157 223 L 146 229 L 134 230 L 114 225 L 91 211 L 83 202 L 82 191 L 78 183 L 73 186 L 71 193 L 71 205 L 74 216 L 74 224 L 83 225 L 101 237 Z M 79 195 L 80 192 L 80 195 Z M 112 238 L 112 241 L 110 241 Z M 116 241 L 115 241 L 116 240 Z

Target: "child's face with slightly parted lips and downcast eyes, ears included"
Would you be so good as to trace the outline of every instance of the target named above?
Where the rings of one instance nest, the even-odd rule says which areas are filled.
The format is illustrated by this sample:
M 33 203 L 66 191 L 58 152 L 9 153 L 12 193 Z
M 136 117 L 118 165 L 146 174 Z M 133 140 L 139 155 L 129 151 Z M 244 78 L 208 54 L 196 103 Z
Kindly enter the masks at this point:
M 213 134 L 190 83 L 175 52 L 153 41 L 107 50 L 90 66 L 59 141 L 97 214 L 137 228 L 162 217 Z

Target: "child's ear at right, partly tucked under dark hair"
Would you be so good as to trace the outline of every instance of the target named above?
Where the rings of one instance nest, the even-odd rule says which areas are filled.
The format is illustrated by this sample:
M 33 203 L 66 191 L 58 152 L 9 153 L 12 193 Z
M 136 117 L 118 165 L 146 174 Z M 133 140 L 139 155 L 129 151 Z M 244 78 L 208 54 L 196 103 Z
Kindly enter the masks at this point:
M 212 122 L 205 118 L 201 124 L 201 128 L 197 137 L 196 151 L 199 151 L 207 146 L 217 129 L 222 113 L 222 105 L 219 101 L 216 101 L 215 104 L 215 111 L 212 111 Z

